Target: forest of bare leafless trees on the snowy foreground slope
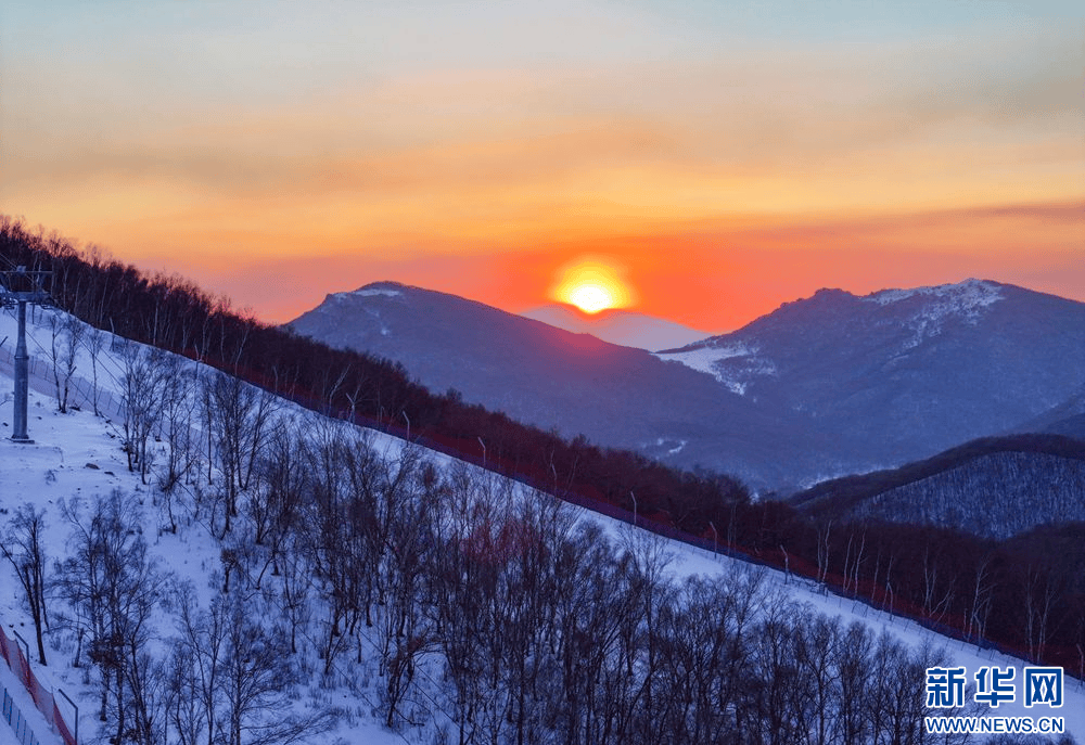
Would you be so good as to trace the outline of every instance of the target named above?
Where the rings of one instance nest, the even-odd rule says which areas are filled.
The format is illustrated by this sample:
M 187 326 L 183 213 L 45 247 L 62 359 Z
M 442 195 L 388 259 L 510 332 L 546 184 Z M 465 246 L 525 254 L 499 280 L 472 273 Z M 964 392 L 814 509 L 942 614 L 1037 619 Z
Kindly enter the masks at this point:
M 209 486 L 202 470 L 175 485 L 182 530 L 220 538 L 209 588 L 152 557 L 155 508 L 136 494 L 21 511 L 16 534 L 68 526 L 42 575 L 54 644 L 97 682 L 114 742 L 311 737 L 342 712 L 291 707 L 299 685 L 374 668 L 384 723 L 439 742 L 934 742 L 922 686 L 939 660 L 796 605 L 764 569 L 677 580 L 650 534 L 608 535 L 506 479 L 280 414 L 244 486 L 221 442 Z M 258 424 L 240 421 L 251 442 Z

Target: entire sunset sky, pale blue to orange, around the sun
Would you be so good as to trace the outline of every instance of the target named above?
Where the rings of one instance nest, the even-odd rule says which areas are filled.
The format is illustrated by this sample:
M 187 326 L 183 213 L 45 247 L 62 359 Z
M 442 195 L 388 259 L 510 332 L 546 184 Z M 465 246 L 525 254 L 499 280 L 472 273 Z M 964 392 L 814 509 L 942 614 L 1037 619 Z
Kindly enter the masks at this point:
M 1085 299 L 1080 9 L 805 8 L 17 0 L 0 211 L 271 321 L 376 280 L 523 310 L 585 257 L 705 331 L 821 286 Z

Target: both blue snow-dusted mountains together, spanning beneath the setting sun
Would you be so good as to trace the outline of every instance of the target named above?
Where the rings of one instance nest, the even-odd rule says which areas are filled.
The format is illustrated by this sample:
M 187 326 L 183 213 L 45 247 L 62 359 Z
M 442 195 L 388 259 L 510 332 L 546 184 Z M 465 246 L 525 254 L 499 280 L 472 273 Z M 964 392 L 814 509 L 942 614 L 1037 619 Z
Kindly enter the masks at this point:
M 329 295 L 289 326 L 542 428 L 763 491 L 1073 427 L 1085 382 L 1085 304 L 980 280 L 821 290 L 656 354 L 391 282 Z

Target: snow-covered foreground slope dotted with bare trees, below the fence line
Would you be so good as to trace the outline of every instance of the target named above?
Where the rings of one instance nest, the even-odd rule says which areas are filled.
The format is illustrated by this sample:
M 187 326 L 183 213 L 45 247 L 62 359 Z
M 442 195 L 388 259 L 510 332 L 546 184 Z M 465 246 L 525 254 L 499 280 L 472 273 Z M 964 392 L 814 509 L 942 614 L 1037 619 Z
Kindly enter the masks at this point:
M 10 318 L 0 324 L 8 333 Z M 44 342 L 39 336 L 31 344 L 39 357 Z M 35 660 L 35 668 L 47 686 L 63 688 L 79 703 L 86 742 L 112 735 L 122 710 L 129 721 L 146 717 L 149 725 L 144 734 L 136 724 L 125 728 L 123 740 L 148 743 L 159 742 L 155 732 L 174 742 L 184 725 L 228 732 L 232 712 L 240 717 L 244 744 L 379 745 L 457 736 L 511 740 L 519 733 L 525 742 L 549 742 L 550 735 L 569 732 L 585 742 L 611 742 L 595 729 L 609 718 L 622 728 L 613 742 L 647 743 L 665 732 L 668 742 L 702 743 L 725 731 L 761 736 L 777 715 L 793 720 L 782 734 L 791 738 L 804 727 L 802 718 L 815 711 L 803 703 L 799 684 L 817 680 L 820 668 L 804 652 L 812 644 L 839 650 L 818 659 L 851 676 L 845 680 L 873 676 L 863 696 L 846 688 L 827 692 L 816 710 L 830 732 L 847 727 L 850 717 L 885 717 L 877 727 L 915 733 L 924 666 L 1019 664 L 947 645 L 870 606 L 812 592 L 813 586 L 783 573 L 637 536 L 439 453 L 316 418 L 281 400 L 269 406 L 275 429 L 291 433 L 288 449 L 276 450 L 275 438 L 265 441 L 276 454 L 259 459 L 263 476 L 239 492 L 234 524 L 224 530 L 224 500 L 237 474 L 224 471 L 225 442 L 217 436 L 215 460 L 201 461 L 201 448 L 189 452 L 192 471 L 171 491 L 162 490 L 162 476 L 176 450 L 184 454 L 183 436 L 151 446 L 148 484 L 140 467 L 128 471 L 120 448 L 125 415 L 111 409 L 128 395 L 133 356 L 154 354 L 139 349 L 110 341 L 100 350 L 102 416 L 84 399 L 92 383 L 75 378 L 71 403 L 78 408 L 68 413 L 56 411 L 54 398 L 31 394 L 35 445 L 0 441 L 5 496 L 20 496 L 5 500 L 10 506 L 0 531 L 10 537 L 17 532 L 13 517 L 27 508 L 40 511 L 43 548 L 59 562 L 50 579 L 63 590 L 51 600 L 49 665 Z M 89 355 L 80 350 L 80 368 Z M 195 380 L 228 382 L 202 365 L 176 362 L 190 367 Z M 33 367 L 34 388 L 50 390 L 49 367 Z M 199 427 L 201 416 L 193 413 L 190 425 Z M 163 425 L 178 432 L 168 419 Z M 220 426 L 213 424 L 216 431 Z M 331 467 L 321 470 L 320 463 Z M 309 499 L 269 501 L 275 490 L 265 491 L 257 481 L 293 484 L 280 493 Z M 334 504 L 327 491 L 333 485 L 344 510 L 324 513 Z M 366 508 L 366 493 L 376 500 L 375 511 Z M 269 519 L 267 508 L 278 517 Z M 283 519 L 282 510 L 299 510 L 296 516 L 305 518 Z M 362 522 L 352 516 L 356 513 Z M 119 529 L 114 534 L 119 542 L 102 555 L 123 551 L 120 576 L 142 577 L 131 586 L 139 591 L 126 595 L 137 601 L 133 608 L 106 612 L 110 622 L 139 620 L 142 629 L 131 638 L 132 648 L 143 654 L 117 661 L 102 655 L 108 647 L 95 635 L 92 615 L 80 617 L 80 595 L 71 592 L 86 570 L 81 531 L 97 530 L 88 517 L 99 514 L 107 529 Z M 319 519 L 321 514 L 336 518 Z M 379 530 L 355 532 L 363 525 Z M 373 543 L 381 535 L 394 540 Z M 342 563 L 352 556 L 362 564 Z M 355 573 L 363 567 L 375 574 Z M 373 589 L 384 601 L 365 601 L 366 576 L 380 579 Z M 0 567 L 0 590 L 10 599 L 0 608 L 5 626 L 33 639 L 8 563 Z M 359 605 L 339 605 L 340 592 Z M 216 624 L 222 625 L 219 631 Z M 80 628 L 87 637 L 75 667 Z M 136 632 L 128 628 L 126 633 Z M 409 631 L 399 635 L 397 629 Z M 219 642 L 221 647 L 214 646 Z M 215 648 L 220 648 L 217 661 L 206 654 Z M 727 664 L 736 651 L 738 668 Z M 475 665 L 480 660 L 482 668 Z M 230 697 L 229 675 L 242 670 L 241 663 L 244 679 L 257 686 L 256 698 Z M 115 665 L 125 670 L 120 691 L 101 676 Z M 144 688 L 140 681 L 154 678 L 141 679 L 140 670 L 162 676 L 164 686 Z M 226 677 L 208 689 L 214 708 L 207 708 L 195 686 L 201 671 L 214 670 Z M 648 690 L 656 693 L 647 697 Z M 884 696 L 870 695 L 879 691 Z M 107 703 L 104 724 L 95 716 L 100 695 Z M 1085 731 L 1085 699 L 1076 690 L 1068 689 L 1067 696 L 1070 731 Z M 895 706 L 896 714 L 879 709 L 879 701 Z M 1030 714 L 1020 705 L 1001 712 Z M 303 722 L 301 732 L 259 729 Z

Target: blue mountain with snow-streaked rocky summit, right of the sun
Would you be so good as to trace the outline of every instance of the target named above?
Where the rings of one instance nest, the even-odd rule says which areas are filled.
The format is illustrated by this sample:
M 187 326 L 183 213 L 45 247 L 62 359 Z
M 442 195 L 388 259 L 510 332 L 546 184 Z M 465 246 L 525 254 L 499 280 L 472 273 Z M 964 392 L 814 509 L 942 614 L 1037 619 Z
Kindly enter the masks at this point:
M 1085 304 L 981 280 L 865 297 L 821 290 L 658 357 L 899 464 L 928 450 L 920 439 L 944 449 L 1017 431 L 1078 391 Z

